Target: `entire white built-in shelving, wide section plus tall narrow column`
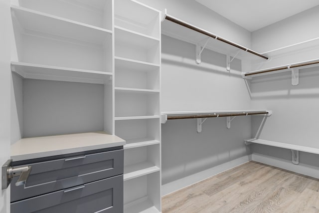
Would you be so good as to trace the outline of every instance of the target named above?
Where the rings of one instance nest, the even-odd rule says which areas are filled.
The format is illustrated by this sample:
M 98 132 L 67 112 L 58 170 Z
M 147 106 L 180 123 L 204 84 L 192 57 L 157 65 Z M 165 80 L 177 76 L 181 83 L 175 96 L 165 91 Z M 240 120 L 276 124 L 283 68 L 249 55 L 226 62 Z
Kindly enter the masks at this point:
M 118 135 L 125 212 L 161 212 L 160 11 L 134 0 L 16 2 L 15 132 Z

